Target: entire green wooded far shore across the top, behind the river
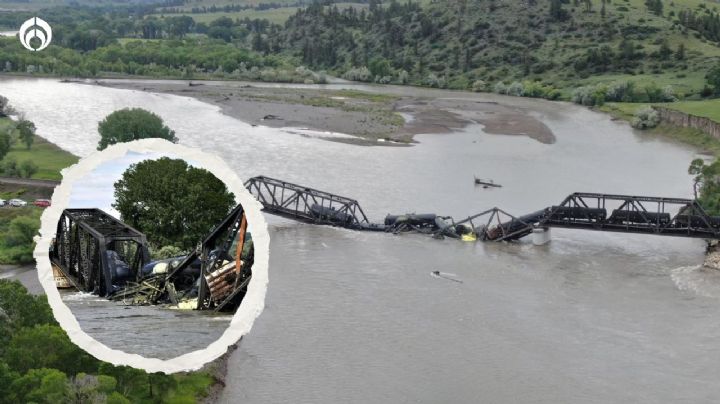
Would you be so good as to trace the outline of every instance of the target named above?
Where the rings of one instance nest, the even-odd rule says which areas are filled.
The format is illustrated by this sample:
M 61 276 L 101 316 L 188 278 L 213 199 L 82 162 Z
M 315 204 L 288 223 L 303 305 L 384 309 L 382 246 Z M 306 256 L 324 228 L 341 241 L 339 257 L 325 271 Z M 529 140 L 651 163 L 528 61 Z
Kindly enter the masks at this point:
M 5 40 L 0 63 L 23 73 L 265 81 L 307 80 L 292 72 L 305 66 L 351 80 L 453 89 L 525 81 L 535 84 L 523 93 L 567 99 L 578 87 L 620 81 L 699 96 L 720 60 L 719 5 L 702 0 L 103 4 L 42 11 L 55 23 L 54 45 L 75 53 L 52 46 L 27 55 Z M 0 25 L 27 15 L 0 13 Z M 209 49 L 217 55 L 205 57 Z

